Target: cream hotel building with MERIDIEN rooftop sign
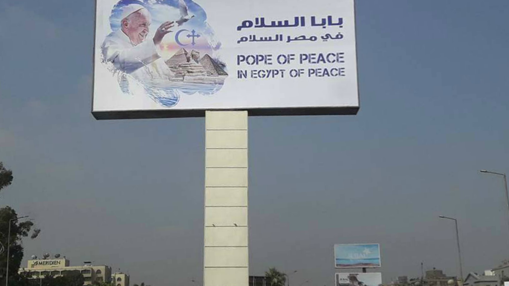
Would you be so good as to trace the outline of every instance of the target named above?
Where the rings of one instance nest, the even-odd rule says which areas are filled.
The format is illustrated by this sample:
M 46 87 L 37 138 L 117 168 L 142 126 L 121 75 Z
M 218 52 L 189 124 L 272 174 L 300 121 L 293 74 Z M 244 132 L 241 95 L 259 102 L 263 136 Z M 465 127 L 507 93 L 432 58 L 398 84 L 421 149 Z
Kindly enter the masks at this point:
M 91 285 L 94 281 L 110 282 L 113 276 L 111 275 L 111 267 L 107 265 L 70 266 L 69 260 L 65 257 L 62 259 L 29 260 L 26 268 L 19 269 L 20 274 L 28 273 L 34 279 L 44 278 L 47 275 L 60 276 L 71 271 L 79 271 L 83 275 L 85 280 L 84 285 Z M 117 283 L 117 285 L 129 286 L 129 275 L 123 275 L 125 276 L 118 276 L 123 281 L 122 283 Z

